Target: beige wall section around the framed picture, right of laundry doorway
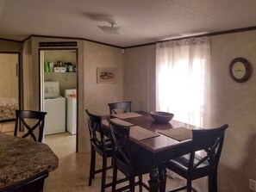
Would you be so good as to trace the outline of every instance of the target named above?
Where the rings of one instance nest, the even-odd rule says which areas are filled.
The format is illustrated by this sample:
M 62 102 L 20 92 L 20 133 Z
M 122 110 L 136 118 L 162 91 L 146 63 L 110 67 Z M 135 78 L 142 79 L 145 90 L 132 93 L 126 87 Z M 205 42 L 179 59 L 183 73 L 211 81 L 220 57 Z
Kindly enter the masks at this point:
M 116 67 L 114 84 L 97 84 L 97 67 Z M 123 100 L 123 54 L 122 49 L 84 41 L 84 109 L 96 115 L 109 115 L 109 102 Z M 85 115 L 84 115 L 85 118 Z M 82 136 L 84 146 L 89 146 L 87 125 Z M 84 148 L 86 152 L 89 148 Z

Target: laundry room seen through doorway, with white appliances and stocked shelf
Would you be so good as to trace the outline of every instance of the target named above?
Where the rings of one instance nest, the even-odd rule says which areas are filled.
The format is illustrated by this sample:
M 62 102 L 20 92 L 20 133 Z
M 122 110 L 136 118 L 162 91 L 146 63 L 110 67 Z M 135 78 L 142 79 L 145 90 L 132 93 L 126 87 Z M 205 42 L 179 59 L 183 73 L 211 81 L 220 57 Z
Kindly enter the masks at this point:
M 41 50 L 45 135 L 77 132 L 77 50 Z

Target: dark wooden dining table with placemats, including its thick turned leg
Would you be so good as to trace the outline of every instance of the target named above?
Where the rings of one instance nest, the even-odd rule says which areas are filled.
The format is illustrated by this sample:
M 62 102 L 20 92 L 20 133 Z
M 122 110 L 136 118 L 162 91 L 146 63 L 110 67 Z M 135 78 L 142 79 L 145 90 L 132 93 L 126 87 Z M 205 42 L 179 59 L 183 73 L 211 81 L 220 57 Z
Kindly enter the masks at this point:
M 152 164 L 149 174 L 151 192 L 164 192 L 166 169 L 165 162 L 190 152 L 192 131 L 196 127 L 181 122 L 155 121 L 145 111 L 110 115 L 111 121 L 130 127 L 132 152 Z M 106 120 L 103 124 L 108 125 Z

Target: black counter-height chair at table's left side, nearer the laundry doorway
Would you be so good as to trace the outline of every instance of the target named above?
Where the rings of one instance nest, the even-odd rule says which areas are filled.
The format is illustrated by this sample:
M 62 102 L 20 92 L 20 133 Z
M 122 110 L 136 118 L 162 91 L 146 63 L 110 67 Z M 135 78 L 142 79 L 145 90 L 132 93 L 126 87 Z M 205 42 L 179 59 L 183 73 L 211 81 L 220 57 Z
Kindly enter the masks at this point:
M 105 135 L 102 125 L 102 116 L 91 114 L 88 109 L 85 109 L 87 115 L 87 122 L 89 127 L 90 139 L 91 139 L 91 165 L 90 165 L 90 176 L 89 176 L 89 186 L 91 186 L 91 181 L 95 177 L 95 174 L 102 173 L 102 184 L 101 191 L 105 191 L 105 188 L 111 186 L 111 183 L 106 184 L 106 171 L 112 168 L 112 164 L 107 166 L 107 158 L 112 158 L 113 149 L 111 141 Z M 103 158 L 102 168 L 96 170 L 96 152 Z M 111 162 L 112 163 L 112 162 Z

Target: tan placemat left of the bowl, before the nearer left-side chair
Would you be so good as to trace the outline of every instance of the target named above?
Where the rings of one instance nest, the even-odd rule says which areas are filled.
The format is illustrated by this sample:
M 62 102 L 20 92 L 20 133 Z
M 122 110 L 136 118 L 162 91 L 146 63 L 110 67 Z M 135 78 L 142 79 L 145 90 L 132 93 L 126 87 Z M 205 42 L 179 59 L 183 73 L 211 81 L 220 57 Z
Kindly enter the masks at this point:
M 130 137 L 136 140 L 149 139 L 158 136 L 159 133 L 154 133 L 140 126 L 130 127 Z

